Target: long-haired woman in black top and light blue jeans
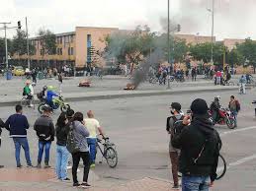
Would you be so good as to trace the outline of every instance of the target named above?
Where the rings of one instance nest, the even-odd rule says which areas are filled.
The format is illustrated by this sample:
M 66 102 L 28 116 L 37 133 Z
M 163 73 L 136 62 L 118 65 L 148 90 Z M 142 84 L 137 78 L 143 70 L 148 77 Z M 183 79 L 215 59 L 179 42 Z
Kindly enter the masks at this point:
M 69 131 L 69 123 L 66 114 L 62 112 L 56 123 L 56 175 L 59 180 L 68 181 L 67 162 L 69 152 L 66 149 L 67 134 Z

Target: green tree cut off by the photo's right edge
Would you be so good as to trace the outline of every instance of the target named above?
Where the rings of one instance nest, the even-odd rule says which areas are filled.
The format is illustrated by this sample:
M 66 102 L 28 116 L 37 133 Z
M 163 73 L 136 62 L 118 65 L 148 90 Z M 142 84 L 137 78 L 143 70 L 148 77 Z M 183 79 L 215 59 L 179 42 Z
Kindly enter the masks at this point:
M 252 65 L 254 68 L 256 68 L 256 42 L 253 41 L 250 38 L 245 39 L 245 42 L 236 44 L 237 51 L 242 55 L 243 62 L 246 61 L 249 63 L 249 65 Z

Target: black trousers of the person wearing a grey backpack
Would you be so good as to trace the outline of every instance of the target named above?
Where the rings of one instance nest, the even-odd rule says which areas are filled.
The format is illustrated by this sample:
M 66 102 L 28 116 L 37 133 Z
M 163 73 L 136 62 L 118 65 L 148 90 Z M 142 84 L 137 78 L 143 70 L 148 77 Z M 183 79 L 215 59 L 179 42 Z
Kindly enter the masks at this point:
M 80 159 L 83 159 L 84 163 L 84 176 L 83 176 L 83 182 L 88 181 L 88 175 L 90 170 L 90 154 L 89 152 L 77 152 L 72 154 L 73 159 L 73 166 L 72 166 L 72 176 L 73 176 L 73 182 L 77 183 L 77 168 L 79 165 Z

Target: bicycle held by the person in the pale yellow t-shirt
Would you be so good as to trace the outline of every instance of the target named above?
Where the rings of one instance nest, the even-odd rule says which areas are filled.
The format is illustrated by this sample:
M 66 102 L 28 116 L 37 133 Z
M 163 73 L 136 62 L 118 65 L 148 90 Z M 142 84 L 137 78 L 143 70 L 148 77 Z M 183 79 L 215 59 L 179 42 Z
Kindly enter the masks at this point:
M 109 166 L 111 168 L 115 168 L 118 165 L 118 152 L 116 150 L 116 145 L 111 143 L 108 137 L 102 136 L 102 138 L 104 141 L 103 143 L 102 140 L 97 138 L 96 148 L 100 150 L 102 158 L 107 160 Z M 102 161 L 100 163 L 102 163 Z

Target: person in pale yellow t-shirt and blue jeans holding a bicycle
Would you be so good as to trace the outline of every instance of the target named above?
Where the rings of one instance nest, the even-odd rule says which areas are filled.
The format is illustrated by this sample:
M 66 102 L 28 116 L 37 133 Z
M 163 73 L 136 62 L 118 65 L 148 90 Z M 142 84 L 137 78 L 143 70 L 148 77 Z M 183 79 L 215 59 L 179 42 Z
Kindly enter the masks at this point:
M 87 116 L 88 118 L 84 119 L 85 126 L 90 133 L 90 136 L 87 138 L 87 143 L 90 148 L 91 167 L 95 167 L 97 134 L 99 132 L 103 135 L 103 131 L 99 121 L 94 118 L 92 110 L 87 112 Z

